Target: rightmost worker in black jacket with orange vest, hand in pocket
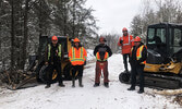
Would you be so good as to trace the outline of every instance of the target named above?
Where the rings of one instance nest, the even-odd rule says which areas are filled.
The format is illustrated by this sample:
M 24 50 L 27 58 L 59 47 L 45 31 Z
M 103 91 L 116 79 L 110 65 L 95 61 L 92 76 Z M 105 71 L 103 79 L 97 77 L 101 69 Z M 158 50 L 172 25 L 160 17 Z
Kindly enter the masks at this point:
M 134 39 L 134 47 L 131 49 L 130 62 L 132 66 L 131 72 L 131 87 L 128 90 L 134 90 L 136 85 L 136 74 L 139 75 L 139 90 L 138 94 L 144 93 L 144 66 L 147 59 L 147 47 L 141 43 L 138 36 Z

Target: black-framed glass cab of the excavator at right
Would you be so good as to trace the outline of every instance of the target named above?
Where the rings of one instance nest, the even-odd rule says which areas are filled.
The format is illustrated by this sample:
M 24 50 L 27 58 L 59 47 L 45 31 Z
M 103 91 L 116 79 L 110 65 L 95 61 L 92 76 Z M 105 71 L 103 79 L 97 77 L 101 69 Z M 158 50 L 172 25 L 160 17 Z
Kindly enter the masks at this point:
M 177 52 L 182 50 L 182 25 L 169 23 L 149 25 L 146 38 L 150 57 L 147 63 L 168 63 L 170 61 L 168 58 L 180 57 Z

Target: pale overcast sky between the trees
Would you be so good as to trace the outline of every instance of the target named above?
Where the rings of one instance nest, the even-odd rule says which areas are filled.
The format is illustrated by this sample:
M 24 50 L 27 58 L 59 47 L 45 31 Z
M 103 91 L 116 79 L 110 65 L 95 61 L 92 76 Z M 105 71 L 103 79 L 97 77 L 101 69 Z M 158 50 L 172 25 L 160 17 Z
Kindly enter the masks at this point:
M 129 28 L 133 16 L 139 13 L 141 2 L 141 0 L 87 0 L 86 5 L 95 10 L 93 15 L 98 20 L 97 25 L 100 27 L 98 34 L 121 34 L 122 28 Z

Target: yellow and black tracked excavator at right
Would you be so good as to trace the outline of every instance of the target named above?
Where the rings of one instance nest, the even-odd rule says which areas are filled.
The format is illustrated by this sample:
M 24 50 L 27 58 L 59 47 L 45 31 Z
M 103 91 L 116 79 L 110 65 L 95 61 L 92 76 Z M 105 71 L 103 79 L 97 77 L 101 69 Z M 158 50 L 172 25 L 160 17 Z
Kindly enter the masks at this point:
M 145 86 L 175 89 L 182 87 L 182 24 L 149 25 L 146 37 L 147 60 L 144 68 Z M 119 75 L 130 83 L 130 72 Z

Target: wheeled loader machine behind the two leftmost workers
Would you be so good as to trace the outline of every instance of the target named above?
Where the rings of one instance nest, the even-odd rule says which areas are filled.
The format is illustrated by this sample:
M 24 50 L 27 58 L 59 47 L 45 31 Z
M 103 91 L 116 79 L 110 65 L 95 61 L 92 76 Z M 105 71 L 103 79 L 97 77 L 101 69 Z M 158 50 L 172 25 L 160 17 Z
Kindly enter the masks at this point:
M 46 82 L 46 72 L 48 66 L 45 65 L 45 50 L 46 46 L 51 41 L 51 37 L 41 36 L 39 38 L 38 52 L 36 56 L 29 56 L 29 65 L 27 72 L 31 74 L 25 74 L 24 80 L 19 84 L 14 85 L 10 89 L 20 89 L 38 85 L 38 83 Z M 68 57 L 68 52 L 72 47 L 72 39 L 69 36 L 58 36 L 58 43 L 61 44 L 64 55 L 61 61 L 61 70 L 64 81 L 70 81 L 72 75 L 72 65 Z M 56 70 L 52 72 L 52 83 L 57 81 L 58 73 Z M 37 81 L 37 82 L 36 82 Z

